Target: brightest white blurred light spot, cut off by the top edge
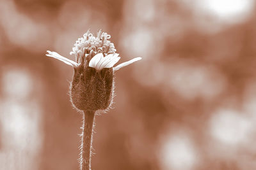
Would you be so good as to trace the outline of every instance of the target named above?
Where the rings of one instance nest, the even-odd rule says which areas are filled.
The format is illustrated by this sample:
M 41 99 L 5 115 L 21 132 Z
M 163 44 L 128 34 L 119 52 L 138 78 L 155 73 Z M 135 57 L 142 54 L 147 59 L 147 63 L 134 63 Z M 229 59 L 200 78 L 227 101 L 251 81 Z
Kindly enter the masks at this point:
M 221 20 L 237 22 L 247 17 L 253 10 L 253 0 L 204 0 L 198 1 L 205 12 L 216 15 Z

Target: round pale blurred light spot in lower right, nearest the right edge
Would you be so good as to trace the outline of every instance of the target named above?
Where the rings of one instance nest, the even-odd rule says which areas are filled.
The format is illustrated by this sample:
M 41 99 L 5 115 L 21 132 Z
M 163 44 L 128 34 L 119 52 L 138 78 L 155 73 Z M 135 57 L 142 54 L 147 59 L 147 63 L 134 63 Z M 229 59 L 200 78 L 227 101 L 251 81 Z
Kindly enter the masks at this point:
M 210 132 L 214 139 L 225 146 L 237 147 L 248 141 L 252 122 L 234 110 L 220 110 L 212 115 Z

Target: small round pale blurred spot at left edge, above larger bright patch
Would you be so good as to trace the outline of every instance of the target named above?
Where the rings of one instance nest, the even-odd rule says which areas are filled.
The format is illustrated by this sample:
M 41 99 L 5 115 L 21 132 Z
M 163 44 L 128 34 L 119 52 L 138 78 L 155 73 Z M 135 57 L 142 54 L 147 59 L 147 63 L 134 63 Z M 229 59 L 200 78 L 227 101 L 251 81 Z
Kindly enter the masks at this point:
M 10 69 L 3 72 L 3 92 L 6 97 L 24 99 L 33 90 L 33 81 L 28 72 L 20 69 Z

